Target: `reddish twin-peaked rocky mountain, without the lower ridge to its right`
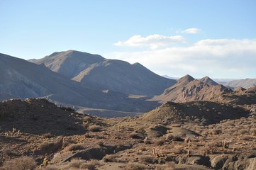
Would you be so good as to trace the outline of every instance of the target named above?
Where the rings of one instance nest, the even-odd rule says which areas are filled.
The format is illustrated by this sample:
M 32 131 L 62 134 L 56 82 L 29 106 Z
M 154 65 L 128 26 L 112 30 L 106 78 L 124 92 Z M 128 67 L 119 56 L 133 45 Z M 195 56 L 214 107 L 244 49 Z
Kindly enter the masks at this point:
M 221 93 L 226 90 L 223 85 L 213 85 L 215 81 L 208 77 L 197 80 L 186 75 L 177 81 L 177 84 L 170 86 L 168 89 L 152 98 L 152 101 L 167 101 L 186 102 L 186 101 L 204 101 L 218 100 Z

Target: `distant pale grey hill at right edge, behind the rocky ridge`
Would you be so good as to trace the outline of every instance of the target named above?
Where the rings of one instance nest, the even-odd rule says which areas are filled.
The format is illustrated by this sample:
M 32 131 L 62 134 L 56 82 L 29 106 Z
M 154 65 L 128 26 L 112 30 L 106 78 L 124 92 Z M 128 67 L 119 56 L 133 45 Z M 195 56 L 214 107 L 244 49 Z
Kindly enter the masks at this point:
M 224 86 L 229 86 L 233 89 L 236 87 L 243 87 L 245 89 L 248 89 L 250 87 L 256 86 L 256 79 L 240 79 L 240 80 L 233 80 L 226 83 L 223 83 Z

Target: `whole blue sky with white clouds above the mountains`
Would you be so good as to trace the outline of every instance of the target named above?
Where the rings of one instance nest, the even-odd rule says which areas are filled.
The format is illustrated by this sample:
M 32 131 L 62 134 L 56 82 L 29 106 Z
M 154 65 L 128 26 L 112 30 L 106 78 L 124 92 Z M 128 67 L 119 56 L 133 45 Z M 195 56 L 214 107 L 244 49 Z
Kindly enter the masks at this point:
M 0 0 L 0 53 L 78 50 L 159 75 L 256 78 L 255 0 Z

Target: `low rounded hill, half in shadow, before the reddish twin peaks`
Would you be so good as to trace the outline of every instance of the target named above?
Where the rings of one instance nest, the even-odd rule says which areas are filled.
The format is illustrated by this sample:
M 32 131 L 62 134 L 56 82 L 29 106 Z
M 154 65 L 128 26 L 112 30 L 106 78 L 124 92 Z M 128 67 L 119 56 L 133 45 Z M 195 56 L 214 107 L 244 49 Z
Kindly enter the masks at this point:
M 142 115 L 142 121 L 163 124 L 198 123 L 210 125 L 221 120 L 247 117 L 250 111 L 243 107 L 233 107 L 226 103 L 212 101 L 190 101 L 186 103 L 167 102 Z

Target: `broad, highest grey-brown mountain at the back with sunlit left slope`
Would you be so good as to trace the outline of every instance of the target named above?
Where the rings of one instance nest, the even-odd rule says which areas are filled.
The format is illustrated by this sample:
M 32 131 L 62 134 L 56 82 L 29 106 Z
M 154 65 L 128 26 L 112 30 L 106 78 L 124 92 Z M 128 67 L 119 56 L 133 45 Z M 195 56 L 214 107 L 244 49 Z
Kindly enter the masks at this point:
M 69 50 L 55 52 L 40 60 L 54 72 L 99 90 L 120 91 L 125 94 L 158 95 L 175 80 L 160 77 L 139 63 L 108 60 L 99 55 Z

